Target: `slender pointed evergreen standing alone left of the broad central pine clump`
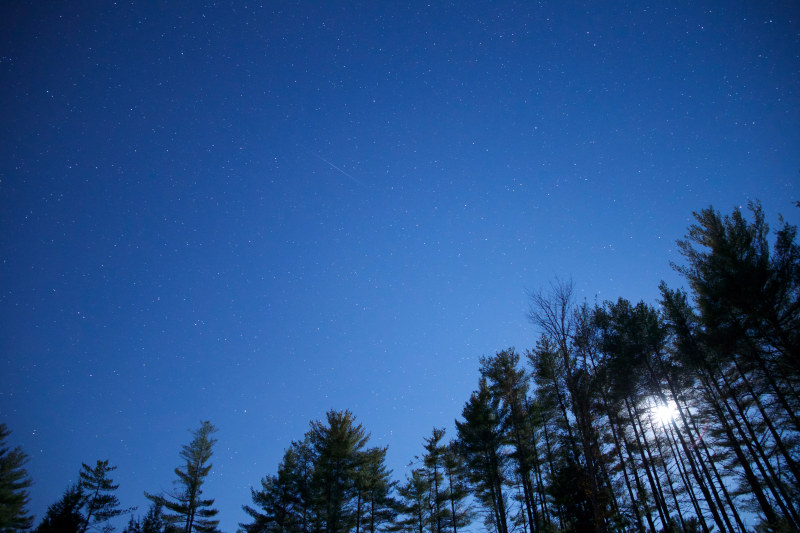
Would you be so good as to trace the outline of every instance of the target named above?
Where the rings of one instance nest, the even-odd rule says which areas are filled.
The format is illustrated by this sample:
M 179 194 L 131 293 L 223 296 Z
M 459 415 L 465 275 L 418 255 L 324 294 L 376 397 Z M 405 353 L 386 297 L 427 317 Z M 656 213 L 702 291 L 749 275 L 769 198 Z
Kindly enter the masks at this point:
M 211 435 L 217 428 L 211 422 L 204 421 L 200 428 L 193 431 L 194 438 L 183 447 L 180 456 L 185 461 L 183 469 L 175 469 L 178 476 L 178 488 L 171 495 L 154 495 L 145 493 L 153 503 L 162 505 L 167 513 L 163 520 L 168 526 L 180 527 L 184 533 L 211 533 L 216 531 L 219 520 L 214 520 L 217 510 L 213 509 L 213 499 L 202 499 L 203 482 L 211 472 L 208 462 L 213 454 L 216 439 Z

